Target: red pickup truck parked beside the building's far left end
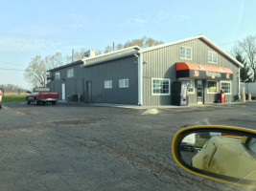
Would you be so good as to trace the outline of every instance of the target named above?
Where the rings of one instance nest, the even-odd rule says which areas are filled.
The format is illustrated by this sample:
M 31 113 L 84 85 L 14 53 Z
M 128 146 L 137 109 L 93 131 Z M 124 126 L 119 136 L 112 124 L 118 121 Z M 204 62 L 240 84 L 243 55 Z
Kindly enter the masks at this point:
M 55 105 L 57 101 L 58 93 L 51 93 L 50 88 L 35 87 L 27 92 L 27 104 L 35 102 L 36 105 L 39 105 L 39 103 L 45 104 L 46 102 L 52 102 Z

